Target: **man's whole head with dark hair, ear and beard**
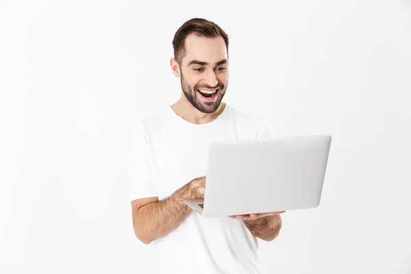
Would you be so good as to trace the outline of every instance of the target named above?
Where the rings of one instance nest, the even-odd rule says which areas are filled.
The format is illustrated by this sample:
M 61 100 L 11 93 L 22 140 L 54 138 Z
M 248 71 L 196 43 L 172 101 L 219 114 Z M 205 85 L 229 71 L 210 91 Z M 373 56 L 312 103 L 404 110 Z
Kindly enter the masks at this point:
M 215 112 L 228 85 L 227 34 L 213 22 L 193 18 L 179 27 L 173 47 L 171 69 L 184 96 L 197 110 Z

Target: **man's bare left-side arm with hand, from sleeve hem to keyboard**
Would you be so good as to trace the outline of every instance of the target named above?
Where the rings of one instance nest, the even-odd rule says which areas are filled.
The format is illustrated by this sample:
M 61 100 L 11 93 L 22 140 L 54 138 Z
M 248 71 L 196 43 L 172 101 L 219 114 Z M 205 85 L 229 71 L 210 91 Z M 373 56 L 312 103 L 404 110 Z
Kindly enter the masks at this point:
M 137 238 L 147 245 L 178 227 L 192 211 L 184 199 L 204 197 L 205 183 L 205 177 L 194 179 L 162 201 L 155 197 L 132 201 L 133 227 Z

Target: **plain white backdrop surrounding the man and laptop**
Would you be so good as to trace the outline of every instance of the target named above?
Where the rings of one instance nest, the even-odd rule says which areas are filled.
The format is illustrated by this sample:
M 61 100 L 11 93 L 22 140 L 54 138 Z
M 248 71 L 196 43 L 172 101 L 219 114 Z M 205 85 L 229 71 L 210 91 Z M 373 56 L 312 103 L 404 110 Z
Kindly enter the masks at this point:
M 227 103 L 333 138 L 319 208 L 283 214 L 261 273 L 411 273 L 411 3 L 393 0 L 0 1 L 0 273 L 149 273 L 127 138 L 179 98 L 192 17 L 229 34 Z

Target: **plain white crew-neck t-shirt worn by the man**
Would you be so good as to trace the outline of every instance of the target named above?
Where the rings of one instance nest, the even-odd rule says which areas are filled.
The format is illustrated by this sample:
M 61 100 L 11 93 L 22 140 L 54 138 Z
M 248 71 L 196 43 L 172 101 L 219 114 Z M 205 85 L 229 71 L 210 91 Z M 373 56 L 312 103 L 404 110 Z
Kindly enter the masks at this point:
M 225 105 L 214 121 L 194 124 L 166 109 L 139 121 L 131 142 L 131 200 L 171 196 L 205 176 L 208 145 L 214 140 L 273 138 L 264 119 Z M 207 186 L 206 186 L 207 187 Z M 147 247 L 152 273 L 259 273 L 258 241 L 244 222 L 203 217 L 192 211 L 169 234 Z

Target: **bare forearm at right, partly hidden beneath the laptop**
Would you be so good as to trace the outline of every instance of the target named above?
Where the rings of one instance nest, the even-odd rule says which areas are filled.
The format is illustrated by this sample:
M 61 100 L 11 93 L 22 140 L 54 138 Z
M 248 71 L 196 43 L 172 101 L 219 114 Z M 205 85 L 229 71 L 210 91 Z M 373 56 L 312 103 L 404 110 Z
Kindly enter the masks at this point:
M 274 240 L 279 234 L 279 229 L 282 227 L 282 219 L 279 214 L 252 221 L 244 221 L 244 223 L 251 234 L 266 241 Z

